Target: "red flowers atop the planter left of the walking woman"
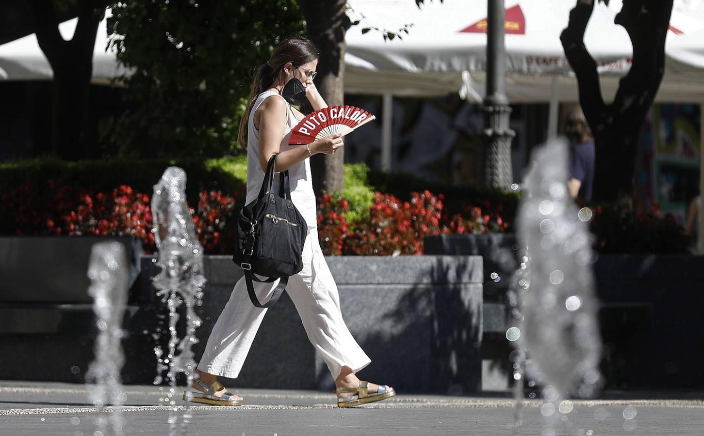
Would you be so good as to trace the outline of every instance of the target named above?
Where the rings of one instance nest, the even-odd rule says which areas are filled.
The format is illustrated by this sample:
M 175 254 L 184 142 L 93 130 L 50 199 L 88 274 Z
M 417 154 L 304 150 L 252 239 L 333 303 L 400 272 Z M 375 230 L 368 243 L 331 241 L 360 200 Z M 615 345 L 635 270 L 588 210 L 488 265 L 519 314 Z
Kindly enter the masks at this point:
M 239 196 L 239 192 L 235 196 Z M 196 237 L 209 254 L 230 254 L 234 244 L 234 196 L 203 191 L 191 209 Z M 90 193 L 48 180 L 26 181 L 0 196 L 0 233 L 18 235 L 134 236 L 153 252 L 149 195 L 121 185 L 108 193 Z

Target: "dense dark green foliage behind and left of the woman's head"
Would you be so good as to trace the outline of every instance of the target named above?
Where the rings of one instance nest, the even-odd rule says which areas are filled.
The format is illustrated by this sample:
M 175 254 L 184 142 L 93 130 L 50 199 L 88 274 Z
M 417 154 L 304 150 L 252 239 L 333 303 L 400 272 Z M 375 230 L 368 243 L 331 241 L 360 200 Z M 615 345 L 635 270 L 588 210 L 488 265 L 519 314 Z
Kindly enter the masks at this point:
M 122 1 L 108 35 L 130 110 L 103 124 L 122 155 L 233 153 L 253 68 L 305 29 L 294 0 Z

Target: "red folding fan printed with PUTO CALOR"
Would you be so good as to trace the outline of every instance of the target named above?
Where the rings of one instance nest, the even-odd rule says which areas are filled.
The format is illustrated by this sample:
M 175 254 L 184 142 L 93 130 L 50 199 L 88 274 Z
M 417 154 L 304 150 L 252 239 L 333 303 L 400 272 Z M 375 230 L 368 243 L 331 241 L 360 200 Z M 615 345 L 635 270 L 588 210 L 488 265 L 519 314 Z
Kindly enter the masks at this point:
M 289 145 L 307 144 L 334 134 L 345 136 L 375 116 L 350 105 L 330 106 L 306 115 L 291 131 Z

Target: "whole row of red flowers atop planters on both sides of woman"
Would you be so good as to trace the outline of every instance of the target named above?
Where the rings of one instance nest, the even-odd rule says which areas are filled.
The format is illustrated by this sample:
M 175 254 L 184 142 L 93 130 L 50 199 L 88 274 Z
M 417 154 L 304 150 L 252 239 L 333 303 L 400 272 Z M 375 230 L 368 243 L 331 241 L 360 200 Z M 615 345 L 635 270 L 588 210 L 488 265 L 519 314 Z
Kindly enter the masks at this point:
M 206 254 L 234 250 L 237 213 L 244 189 L 227 195 L 203 191 L 191 209 L 196 237 Z M 318 204 L 318 234 L 326 255 L 420 255 L 423 238 L 444 233 L 487 233 L 511 229 L 501 200 L 446 205 L 442 194 L 412 193 L 408 201 L 377 192 L 368 219 L 348 222 L 346 199 L 324 194 Z M 582 205 L 584 206 L 584 205 Z M 591 231 L 600 252 L 687 252 L 691 238 L 670 214 L 631 213 L 591 207 Z M 134 236 L 153 252 L 149 195 L 121 185 L 108 192 L 47 180 L 26 181 L 0 195 L 0 234 Z M 647 238 L 643 238 L 647 235 Z

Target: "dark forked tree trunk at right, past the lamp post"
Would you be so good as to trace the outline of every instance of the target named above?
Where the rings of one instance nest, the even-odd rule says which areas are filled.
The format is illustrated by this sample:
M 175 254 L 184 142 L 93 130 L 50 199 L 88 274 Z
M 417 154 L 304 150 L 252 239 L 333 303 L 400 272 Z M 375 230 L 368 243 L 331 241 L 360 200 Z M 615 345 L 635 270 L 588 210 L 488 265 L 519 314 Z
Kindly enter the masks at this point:
M 560 41 L 577 75 L 579 103 L 594 135 L 593 199 L 621 201 L 632 198 L 640 129 L 665 72 L 665 37 L 672 0 L 624 0 L 615 23 L 629 34 L 633 60 L 610 104 L 603 101 L 596 61 L 584 46 L 594 4 L 595 0 L 577 2 Z

